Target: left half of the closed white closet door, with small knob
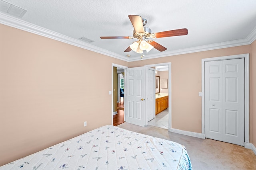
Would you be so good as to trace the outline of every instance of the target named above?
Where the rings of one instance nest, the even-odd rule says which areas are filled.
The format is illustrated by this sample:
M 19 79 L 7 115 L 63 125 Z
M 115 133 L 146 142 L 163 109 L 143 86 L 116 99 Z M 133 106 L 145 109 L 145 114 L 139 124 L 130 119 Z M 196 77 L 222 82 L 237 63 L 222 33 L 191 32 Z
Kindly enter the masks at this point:
M 205 137 L 222 141 L 222 61 L 204 63 Z

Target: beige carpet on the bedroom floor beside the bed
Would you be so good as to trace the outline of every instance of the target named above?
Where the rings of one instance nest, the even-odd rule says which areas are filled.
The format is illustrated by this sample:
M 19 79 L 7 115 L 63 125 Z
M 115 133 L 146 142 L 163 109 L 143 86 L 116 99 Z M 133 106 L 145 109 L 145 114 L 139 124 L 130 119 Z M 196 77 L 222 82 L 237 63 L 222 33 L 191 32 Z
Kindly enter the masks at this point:
M 124 122 L 118 127 L 184 145 L 193 170 L 256 170 L 256 155 L 252 150 L 242 146 L 180 135 L 150 125 L 140 127 Z

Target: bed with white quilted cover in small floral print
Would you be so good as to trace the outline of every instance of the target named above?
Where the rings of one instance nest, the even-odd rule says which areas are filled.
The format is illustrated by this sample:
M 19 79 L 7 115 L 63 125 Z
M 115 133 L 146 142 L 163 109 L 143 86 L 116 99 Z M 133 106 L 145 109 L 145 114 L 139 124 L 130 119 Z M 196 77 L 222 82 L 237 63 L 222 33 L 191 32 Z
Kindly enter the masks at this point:
M 183 145 L 106 125 L 0 170 L 192 170 Z

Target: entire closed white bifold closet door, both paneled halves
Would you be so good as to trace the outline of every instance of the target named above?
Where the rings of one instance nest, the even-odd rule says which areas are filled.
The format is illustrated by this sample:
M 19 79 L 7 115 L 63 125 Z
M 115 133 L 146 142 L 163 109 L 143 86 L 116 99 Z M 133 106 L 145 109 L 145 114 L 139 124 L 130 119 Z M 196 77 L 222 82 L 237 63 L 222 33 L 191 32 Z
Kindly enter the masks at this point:
M 244 146 L 244 59 L 204 66 L 205 137 Z

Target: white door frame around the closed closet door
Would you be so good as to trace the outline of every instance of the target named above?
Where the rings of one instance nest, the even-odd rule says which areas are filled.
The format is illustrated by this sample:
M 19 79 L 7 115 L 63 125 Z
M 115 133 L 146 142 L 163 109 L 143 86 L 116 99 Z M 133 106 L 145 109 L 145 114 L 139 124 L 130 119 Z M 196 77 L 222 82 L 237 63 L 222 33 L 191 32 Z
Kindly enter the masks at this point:
M 213 57 L 202 59 L 201 68 L 202 68 L 202 134 L 205 135 L 205 120 L 204 120 L 204 62 L 206 61 L 219 61 L 219 60 L 229 60 L 229 59 L 241 59 L 244 58 L 244 146 L 249 144 L 249 80 L 250 80 L 250 69 L 249 69 L 249 54 L 240 54 L 240 55 L 230 55 L 223 57 Z

